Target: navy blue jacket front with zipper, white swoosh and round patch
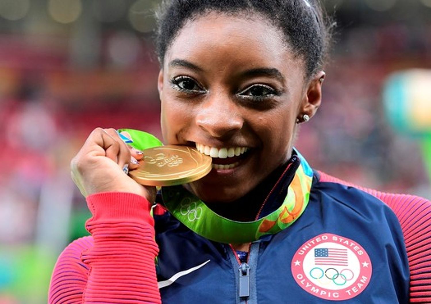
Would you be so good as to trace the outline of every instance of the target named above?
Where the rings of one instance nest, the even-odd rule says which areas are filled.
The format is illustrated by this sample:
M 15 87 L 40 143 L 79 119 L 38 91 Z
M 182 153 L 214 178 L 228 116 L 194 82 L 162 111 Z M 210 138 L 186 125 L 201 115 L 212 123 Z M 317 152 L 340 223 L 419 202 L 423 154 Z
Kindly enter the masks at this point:
M 373 194 L 314 172 L 303 215 L 253 242 L 247 263 L 228 244 L 197 235 L 169 212 L 155 215 L 158 280 L 179 273 L 160 288 L 162 302 L 409 303 L 405 232 L 376 197 L 384 193 Z

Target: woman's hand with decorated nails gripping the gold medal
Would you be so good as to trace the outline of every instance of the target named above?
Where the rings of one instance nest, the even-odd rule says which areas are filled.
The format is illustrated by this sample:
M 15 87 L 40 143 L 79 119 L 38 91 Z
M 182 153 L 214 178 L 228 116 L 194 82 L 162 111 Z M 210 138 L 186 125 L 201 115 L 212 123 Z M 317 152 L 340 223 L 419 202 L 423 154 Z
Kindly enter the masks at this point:
M 123 135 L 128 137 L 127 133 Z M 144 187 L 126 173 L 136 169 L 142 152 L 128 146 L 115 129 L 94 129 L 72 159 L 72 179 L 84 197 L 99 192 L 128 192 L 156 198 L 155 187 Z

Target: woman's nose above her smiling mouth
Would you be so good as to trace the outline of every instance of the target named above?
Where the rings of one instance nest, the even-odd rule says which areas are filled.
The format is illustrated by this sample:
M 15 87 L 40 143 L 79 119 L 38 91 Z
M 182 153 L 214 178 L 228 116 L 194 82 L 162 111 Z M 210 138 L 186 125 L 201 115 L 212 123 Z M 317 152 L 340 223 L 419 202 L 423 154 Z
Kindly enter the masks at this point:
M 196 124 L 215 138 L 228 138 L 242 129 L 244 119 L 238 104 L 228 96 L 213 95 L 200 104 Z

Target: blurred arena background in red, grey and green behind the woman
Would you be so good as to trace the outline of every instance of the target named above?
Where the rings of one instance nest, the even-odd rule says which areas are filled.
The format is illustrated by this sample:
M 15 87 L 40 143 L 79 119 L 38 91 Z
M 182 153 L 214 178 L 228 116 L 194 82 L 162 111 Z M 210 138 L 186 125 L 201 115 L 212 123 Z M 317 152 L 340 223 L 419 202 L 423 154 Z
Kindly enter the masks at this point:
M 161 138 L 151 40 L 158 3 L 0 0 L 0 304 L 46 303 L 56 257 L 87 234 L 69 162 L 89 132 L 127 127 Z M 394 110 L 406 102 L 390 80 L 430 71 L 431 0 L 324 3 L 336 41 L 322 107 L 297 147 L 338 178 L 431 198 L 431 92 L 416 98 L 420 119 L 394 118 L 406 116 Z

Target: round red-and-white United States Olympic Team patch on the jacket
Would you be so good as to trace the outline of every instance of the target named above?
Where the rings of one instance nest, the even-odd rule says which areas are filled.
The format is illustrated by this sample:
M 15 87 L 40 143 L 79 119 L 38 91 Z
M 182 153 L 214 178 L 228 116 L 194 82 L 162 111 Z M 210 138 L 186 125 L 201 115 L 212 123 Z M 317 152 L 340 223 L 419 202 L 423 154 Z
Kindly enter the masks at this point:
M 356 297 L 368 286 L 371 260 L 357 242 L 323 233 L 304 243 L 292 259 L 295 281 L 316 297 L 342 301 Z

